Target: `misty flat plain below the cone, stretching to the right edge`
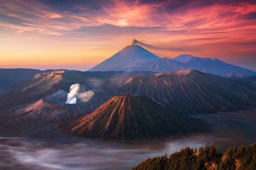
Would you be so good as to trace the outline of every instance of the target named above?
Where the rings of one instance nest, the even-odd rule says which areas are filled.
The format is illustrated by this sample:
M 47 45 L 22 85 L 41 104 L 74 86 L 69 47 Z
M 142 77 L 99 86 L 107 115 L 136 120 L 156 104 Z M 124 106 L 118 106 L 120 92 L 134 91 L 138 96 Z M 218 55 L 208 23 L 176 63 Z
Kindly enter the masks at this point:
M 141 142 L 142 144 L 134 144 L 136 141 L 111 143 L 111 141 L 58 138 L 56 133 L 53 133 L 54 137 L 48 136 L 55 141 L 50 143 L 29 140 L 25 137 L 0 137 L 0 169 L 119 170 L 131 169 L 148 157 L 163 155 L 166 151 L 171 154 L 186 146 L 215 145 L 219 152 L 224 152 L 229 147 L 256 142 L 255 115 L 256 111 L 253 110 L 194 115 L 212 123 L 215 132 L 191 134 L 178 139 L 171 137 L 165 142 L 144 141 Z M 44 139 L 43 137 L 42 140 Z

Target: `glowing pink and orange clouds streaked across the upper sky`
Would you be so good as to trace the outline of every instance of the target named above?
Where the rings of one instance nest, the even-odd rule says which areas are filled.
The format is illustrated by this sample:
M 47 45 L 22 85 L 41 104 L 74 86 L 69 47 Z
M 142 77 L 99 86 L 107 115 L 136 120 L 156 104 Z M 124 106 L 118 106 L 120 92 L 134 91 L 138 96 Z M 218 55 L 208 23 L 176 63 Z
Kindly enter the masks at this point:
M 256 50 L 250 44 L 256 41 L 256 37 L 252 36 L 256 31 L 256 22 L 253 17 L 246 17 L 256 12 L 256 4 L 218 1 L 202 5 L 202 1 L 192 1 L 169 9 L 175 6 L 175 2 L 143 4 L 140 1 L 113 0 L 98 3 L 97 8 L 75 4 L 61 11 L 34 0 L 2 0 L 0 13 L 20 22 L 1 21 L 0 28 L 14 33 L 76 35 L 82 33 L 83 27 L 110 24 L 123 29 L 130 27 L 129 34 L 118 34 L 123 39 L 132 36 L 130 40 L 138 38 L 154 46 L 164 46 L 163 49 L 187 49 L 188 52 Z M 145 35 L 135 27 L 158 29 Z M 114 30 L 106 33 L 101 30 L 101 35 L 108 38 L 117 34 Z

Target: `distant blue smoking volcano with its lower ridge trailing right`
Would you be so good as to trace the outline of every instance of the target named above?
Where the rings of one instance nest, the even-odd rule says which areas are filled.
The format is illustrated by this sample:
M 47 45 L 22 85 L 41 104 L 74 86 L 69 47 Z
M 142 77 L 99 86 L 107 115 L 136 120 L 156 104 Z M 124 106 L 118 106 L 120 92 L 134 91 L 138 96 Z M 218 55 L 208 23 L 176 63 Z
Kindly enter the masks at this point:
M 197 69 L 204 73 L 223 77 L 256 76 L 256 72 L 220 61 L 217 58 L 201 58 L 182 54 L 175 58 L 160 58 L 138 45 L 130 45 L 89 69 L 88 71 L 151 71 L 173 72 Z

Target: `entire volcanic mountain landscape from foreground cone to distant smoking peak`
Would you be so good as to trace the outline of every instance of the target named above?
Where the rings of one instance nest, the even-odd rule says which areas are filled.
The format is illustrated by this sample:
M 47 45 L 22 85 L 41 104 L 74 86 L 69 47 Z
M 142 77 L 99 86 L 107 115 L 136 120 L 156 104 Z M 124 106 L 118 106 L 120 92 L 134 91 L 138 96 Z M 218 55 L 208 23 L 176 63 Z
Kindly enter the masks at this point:
M 256 77 L 235 77 L 254 72 L 218 59 L 160 58 L 132 45 L 96 67 L 86 72 L 1 69 L 3 133 L 59 124 L 73 136 L 132 140 L 199 131 L 200 120 L 188 115 L 256 107 Z M 78 89 L 72 92 L 74 86 Z M 70 94 L 75 102 L 68 102 Z

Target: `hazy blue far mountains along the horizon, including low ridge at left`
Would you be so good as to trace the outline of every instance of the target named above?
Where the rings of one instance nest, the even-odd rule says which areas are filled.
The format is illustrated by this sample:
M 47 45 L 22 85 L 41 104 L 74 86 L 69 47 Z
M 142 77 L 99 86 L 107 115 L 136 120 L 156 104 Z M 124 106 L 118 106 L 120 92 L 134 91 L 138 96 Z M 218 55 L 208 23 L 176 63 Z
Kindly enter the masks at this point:
M 126 75 L 132 72 L 153 74 L 162 72 L 175 72 L 180 70 L 196 69 L 204 73 L 220 75 L 222 77 L 250 77 L 256 76 L 256 72 L 225 63 L 217 58 L 200 58 L 182 54 L 175 58 L 161 58 L 149 52 L 139 45 L 130 45 L 117 52 L 112 57 L 89 69 L 92 75 Z M 11 87 L 19 81 L 33 77 L 38 73 L 49 73 L 58 70 L 66 72 L 80 72 L 67 69 L 0 69 L 0 91 Z M 116 72 L 113 72 L 116 71 Z M 145 71 L 148 71 L 147 73 Z M 130 72 L 130 73 L 129 73 Z

